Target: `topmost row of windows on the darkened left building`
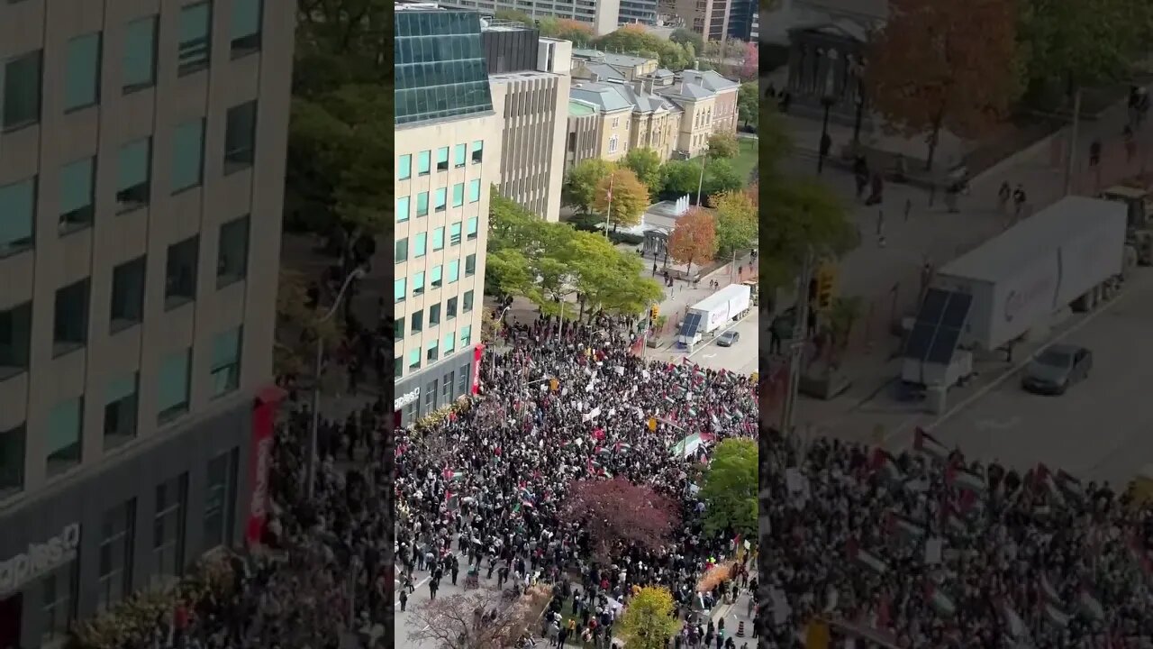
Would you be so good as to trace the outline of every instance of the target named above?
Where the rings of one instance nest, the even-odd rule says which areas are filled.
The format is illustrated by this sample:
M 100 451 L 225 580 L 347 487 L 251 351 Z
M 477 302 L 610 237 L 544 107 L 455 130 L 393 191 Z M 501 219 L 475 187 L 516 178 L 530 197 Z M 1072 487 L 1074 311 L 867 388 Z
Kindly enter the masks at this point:
M 236 59 L 261 49 L 263 0 L 232 0 L 229 50 Z M 157 28 L 159 16 L 131 21 L 123 30 L 120 82 L 123 94 L 156 84 Z M 186 5 L 180 9 L 176 72 L 184 76 L 209 66 L 212 50 L 212 2 Z M 63 59 L 63 111 L 100 103 L 103 32 L 68 40 Z M 16 130 L 40 121 L 43 51 L 29 52 L 3 64 L 0 79 L 0 129 Z

